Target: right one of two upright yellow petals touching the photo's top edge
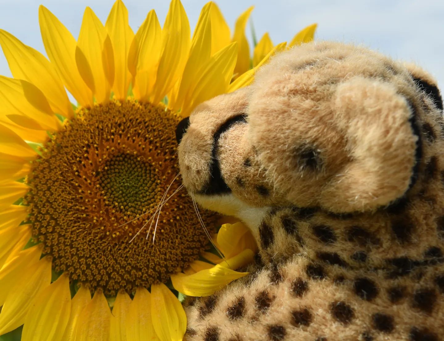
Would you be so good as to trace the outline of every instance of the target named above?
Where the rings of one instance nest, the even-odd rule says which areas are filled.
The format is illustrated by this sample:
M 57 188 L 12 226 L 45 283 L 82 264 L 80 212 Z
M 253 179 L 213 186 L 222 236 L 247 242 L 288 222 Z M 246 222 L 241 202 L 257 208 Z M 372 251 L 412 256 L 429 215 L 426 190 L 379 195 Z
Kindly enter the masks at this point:
M 190 24 L 179 0 L 172 0 L 162 30 L 162 55 L 153 103 L 158 103 L 182 75 L 190 49 Z

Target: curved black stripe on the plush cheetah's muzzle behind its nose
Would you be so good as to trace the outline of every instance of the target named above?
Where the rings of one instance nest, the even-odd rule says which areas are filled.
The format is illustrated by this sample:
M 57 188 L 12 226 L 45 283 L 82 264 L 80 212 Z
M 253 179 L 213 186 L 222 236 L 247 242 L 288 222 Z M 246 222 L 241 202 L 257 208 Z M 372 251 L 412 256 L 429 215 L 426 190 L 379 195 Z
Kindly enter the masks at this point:
M 246 114 L 237 115 L 228 119 L 214 133 L 213 146 L 211 147 L 211 161 L 209 166 L 210 177 L 208 182 L 204 186 L 202 186 L 202 189 L 199 190 L 197 194 L 215 195 L 215 194 L 226 194 L 231 192 L 230 187 L 226 184 L 224 178 L 222 177 L 222 172 L 220 169 L 217 152 L 218 152 L 219 138 L 224 132 L 228 131 L 236 123 L 244 123 L 244 124 L 247 123 Z

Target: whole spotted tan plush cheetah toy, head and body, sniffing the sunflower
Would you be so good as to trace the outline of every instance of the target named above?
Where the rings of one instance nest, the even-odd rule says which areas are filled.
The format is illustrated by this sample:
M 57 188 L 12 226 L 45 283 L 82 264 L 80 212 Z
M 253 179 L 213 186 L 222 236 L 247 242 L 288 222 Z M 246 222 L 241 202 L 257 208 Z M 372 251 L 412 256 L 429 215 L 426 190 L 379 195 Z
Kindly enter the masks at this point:
M 430 75 L 311 43 L 182 125 L 183 182 L 253 232 L 188 341 L 444 341 L 443 102 Z

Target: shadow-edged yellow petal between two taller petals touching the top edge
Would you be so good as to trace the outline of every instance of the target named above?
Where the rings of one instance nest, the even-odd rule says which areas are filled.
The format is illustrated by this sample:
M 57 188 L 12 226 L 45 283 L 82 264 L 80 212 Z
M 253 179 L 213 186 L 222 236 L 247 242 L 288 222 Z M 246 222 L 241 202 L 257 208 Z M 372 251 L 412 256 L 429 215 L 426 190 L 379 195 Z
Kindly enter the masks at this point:
M 151 10 L 134 36 L 128 54 L 128 68 L 135 77 L 136 99 L 149 99 L 156 81 L 162 48 L 162 28 Z

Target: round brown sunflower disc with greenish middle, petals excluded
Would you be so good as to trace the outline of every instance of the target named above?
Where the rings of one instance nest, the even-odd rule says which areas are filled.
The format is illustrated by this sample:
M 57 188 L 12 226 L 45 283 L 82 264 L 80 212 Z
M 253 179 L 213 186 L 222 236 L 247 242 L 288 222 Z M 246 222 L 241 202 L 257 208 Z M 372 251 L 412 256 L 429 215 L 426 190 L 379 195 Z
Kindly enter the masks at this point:
M 108 295 L 131 293 L 167 282 L 206 249 L 176 178 L 179 121 L 160 106 L 114 101 L 81 109 L 44 146 L 25 202 L 56 271 Z M 211 226 L 214 216 L 202 214 Z

